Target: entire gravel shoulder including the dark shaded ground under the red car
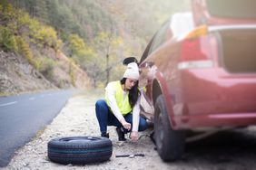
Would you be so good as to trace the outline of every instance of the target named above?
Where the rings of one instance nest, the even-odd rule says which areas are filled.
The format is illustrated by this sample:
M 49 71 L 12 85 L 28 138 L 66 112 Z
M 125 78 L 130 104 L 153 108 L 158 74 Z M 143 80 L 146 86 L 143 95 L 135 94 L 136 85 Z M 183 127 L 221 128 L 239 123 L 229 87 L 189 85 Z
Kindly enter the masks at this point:
M 205 140 L 190 143 L 181 161 L 164 163 L 155 151 L 149 137 L 143 136 L 137 143 L 121 143 L 114 127 L 109 128 L 113 141 L 113 156 L 109 161 L 90 165 L 60 165 L 49 161 L 47 142 L 54 137 L 98 136 L 94 103 L 102 95 L 95 93 L 77 95 L 69 99 L 51 125 L 44 128 L 34 139 L 15 153 L 9 169 L 149 169 L 149 170 L 241 170 L 255 169 L 256 127 L 222 132 Z M 149 135 L 152 128 L 140 135 Z M 119 158 L 117 154 L 140 154 L 144 157 Z

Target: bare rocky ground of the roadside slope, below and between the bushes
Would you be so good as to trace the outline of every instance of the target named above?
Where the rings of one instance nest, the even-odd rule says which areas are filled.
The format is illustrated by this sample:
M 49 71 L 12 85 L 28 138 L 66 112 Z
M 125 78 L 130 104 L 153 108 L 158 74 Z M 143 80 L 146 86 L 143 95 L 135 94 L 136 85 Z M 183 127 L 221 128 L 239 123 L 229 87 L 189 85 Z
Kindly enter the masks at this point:
M 90 87 L 87 74 L 72 64 L 63 53 L 56 55 L 55 60 L 58 66 L 54 67 L 53 77 L 48 80 L 21 55 L 0 51 L 0 96 L 74 88 L 69 73 L 70 67 L 73 67 L 74 71 L 75 88 Z

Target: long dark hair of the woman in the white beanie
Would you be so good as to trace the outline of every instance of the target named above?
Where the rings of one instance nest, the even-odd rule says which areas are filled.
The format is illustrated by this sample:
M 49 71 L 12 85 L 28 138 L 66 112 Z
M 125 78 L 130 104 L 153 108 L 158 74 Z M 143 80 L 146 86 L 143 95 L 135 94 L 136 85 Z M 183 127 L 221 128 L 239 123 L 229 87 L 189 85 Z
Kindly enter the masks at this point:
M 122 80 L 120 80 L 121 84 L 125 84 L 126 80 L 127 78 L 123 78 Z M 141 91 L 139 90 L 138 86 L 139 86 L 139 81 L 137 80 L 133 88 L 129 90 L 128 98 L 132 108 L 134 107 L 134 105 L 136 104 L 137 100 L 141 95 Z

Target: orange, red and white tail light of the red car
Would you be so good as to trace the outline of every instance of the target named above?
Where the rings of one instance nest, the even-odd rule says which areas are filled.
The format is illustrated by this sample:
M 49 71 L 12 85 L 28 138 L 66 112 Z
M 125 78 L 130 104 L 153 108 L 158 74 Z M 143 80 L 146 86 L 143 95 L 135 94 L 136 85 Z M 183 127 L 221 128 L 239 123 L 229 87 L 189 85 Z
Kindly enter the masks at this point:
M 182 41 L 179 69 L 213 67 L 212 50 L 216 47 L 208 34 L 207 26 L 201 26 L 189 33 Z

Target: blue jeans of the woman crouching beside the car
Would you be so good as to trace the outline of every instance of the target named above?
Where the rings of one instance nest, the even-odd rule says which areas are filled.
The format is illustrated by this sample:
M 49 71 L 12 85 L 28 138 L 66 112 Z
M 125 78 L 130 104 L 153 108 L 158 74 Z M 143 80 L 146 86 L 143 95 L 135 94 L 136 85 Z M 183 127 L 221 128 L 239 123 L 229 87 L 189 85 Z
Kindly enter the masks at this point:
M 123 127 L 122 124 L 119 122 L 117 118 L 113 115 L 112 111 L 107 106 L 107 103 L 104 99 L 97 100 L 95 104 L 95 110 L 96 110 L 96 117 L 98 119 L 100 130 L 102 133 L 107 132 L 107 126 L 114 126 L 114 127 Z M 133 114 L 129 113 L 124 116 L 124 119 L 131 123 L 131 126 L 133 127 Z M 147 122 L 144 118 L 140 117 L 139 121 L 139 131 L 143 131 L 147 128 Z M 124 133 L 128 133 L 130 131 L 124 129 Z M 132 129 L 132 128 L 131 128 Z

